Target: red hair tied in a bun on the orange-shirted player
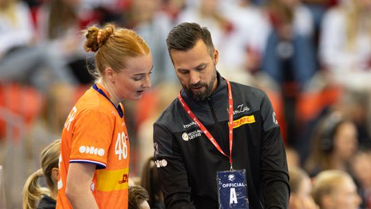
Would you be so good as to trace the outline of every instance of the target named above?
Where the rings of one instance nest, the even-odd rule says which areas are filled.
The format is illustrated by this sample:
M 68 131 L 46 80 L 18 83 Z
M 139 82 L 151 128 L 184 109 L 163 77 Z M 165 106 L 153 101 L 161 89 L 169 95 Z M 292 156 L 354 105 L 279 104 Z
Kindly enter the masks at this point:
M 95 69 L 89 69 L 89 73 L 97 80 L 102 78 L 106 67 L 120 72 L 126 67 L 126 58 L 150 53 L 146 41 L 135 31 L 116 29 L 111 23 L 104 25 L 102 29 L 93 26 L 85 30 L 85 36 L 85 51 L 96 52 Z

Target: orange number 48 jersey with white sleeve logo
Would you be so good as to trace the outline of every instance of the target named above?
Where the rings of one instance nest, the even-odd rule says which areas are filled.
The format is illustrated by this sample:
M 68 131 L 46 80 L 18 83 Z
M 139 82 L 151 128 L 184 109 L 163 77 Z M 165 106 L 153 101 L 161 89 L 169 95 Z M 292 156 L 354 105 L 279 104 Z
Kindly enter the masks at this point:
M 128 208 L 129 153 L 122 109 L 115 108 L 102 86 L 93 85 L 78 100 L 63 128 L 56 208 L 71 208 L 65 195 L 70 163 L 97 166 L 91 192 L 99 208 Z

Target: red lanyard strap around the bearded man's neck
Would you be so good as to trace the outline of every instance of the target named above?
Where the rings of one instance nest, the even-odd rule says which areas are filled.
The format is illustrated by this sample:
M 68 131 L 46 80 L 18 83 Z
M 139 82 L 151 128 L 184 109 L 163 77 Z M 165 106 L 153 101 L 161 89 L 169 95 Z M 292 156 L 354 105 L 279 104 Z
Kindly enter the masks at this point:
M 225 78 L 224 78 L 225 79 Z M 205 133 L 205 135 L 207 136 L 207 138 L 210 140 L 210 142 L 212 142 L 212 144 L 214 144 L 214 146 L 216 147 L 216 149 L 222 153 L 223 155 L 225 155 L 226 157 L 229 158 L 229 164 L 231 164 L 231 170 L 232 170 L 232 144 L 233 144 L 233 99 L 232 99 L 232 89 L 231 89 L 231 84 L 229 83 L 229 81 L 227 79 L 225 79 L 225 81 L 227 81 L 227 85 L 228 85 L 228 110 L 229 110 L 229 156 L 226 155 L 223 150 L 221 149 L 221 146 L 219 146 L 218 142 L 215 141 L 214 137 L 212 137 L 211 133 L 209 131 L 207 131 L 207 129 L 205 128 L 205 126 L 203 126 L 203 124 L 199 121 L 199 119 L 196 117 L 196 115 L 194 115 L 194 113 L 190 110 L 190 107 L 188 107 L 188 105 L 186 104 L 186 102 L 184 102 L 183 98 L 181 97 L 181 94 L 179 93 L 179 96 L 178 96 L 178 99 L 179 101 L 181 102 L 181 105 L 183 106 L 183 108 L 186 110 L 186 112 L 188 113 L 188 115 L 190 115 L 190 117 L 192 118 L 192 120 L 194 120 L 194 122 L 196 122 L 196 124 L 200 127 L 201 131 L 203 133 Z M 217 121 L 216 121 L 217 122 Z

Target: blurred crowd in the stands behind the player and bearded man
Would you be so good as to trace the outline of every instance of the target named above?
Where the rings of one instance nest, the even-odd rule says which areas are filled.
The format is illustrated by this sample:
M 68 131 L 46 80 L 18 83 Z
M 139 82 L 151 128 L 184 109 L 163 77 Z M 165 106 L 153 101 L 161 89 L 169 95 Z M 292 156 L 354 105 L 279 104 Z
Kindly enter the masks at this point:
M 222 76 L 267 92 L 289 170 L 343 170 L 357 185 L 348 197 L 371 208 L 371 0 L 0 0 L 0 208 L 21 206 L 38 156 L 94 81 L 89 25 L 131 28 L 150 46 L 153 87 L 124 101 L 130 175 L 150 175 L 153 122 L 181 89 L 166 36 L 185 21 L 210 30 Z

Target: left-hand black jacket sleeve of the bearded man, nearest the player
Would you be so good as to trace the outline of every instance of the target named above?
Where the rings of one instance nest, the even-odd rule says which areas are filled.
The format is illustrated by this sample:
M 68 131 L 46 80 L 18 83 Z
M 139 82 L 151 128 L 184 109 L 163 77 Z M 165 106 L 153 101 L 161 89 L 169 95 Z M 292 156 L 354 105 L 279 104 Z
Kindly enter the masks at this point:
M 153 144 L 155 164 L 159 183 L 164 192 L 166 208 L 195 208 L 191 189 L 188 186 L 186 166 L 179 151 L 175 137 L 158 123 L 153 125 Z

